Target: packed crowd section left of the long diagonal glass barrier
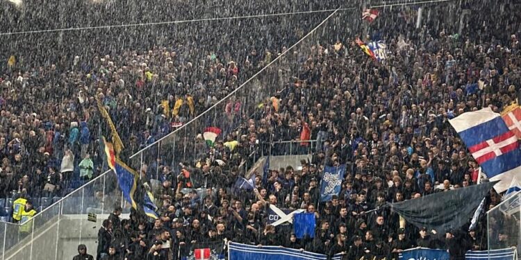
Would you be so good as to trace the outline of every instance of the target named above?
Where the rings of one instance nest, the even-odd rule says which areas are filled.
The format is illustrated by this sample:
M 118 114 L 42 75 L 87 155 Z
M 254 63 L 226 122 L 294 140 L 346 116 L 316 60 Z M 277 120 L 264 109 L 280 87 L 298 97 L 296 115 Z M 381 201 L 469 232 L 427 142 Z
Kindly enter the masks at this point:
M 323 18 L 324 14 L 308 15 L 299 26 L 289 26 L 288 17 L 227 21 L 219 28 L 208 24 L 221 21 L 206 21 L 176 26 L 168 36 L 143 28 L 121 29 L 123 37 L 161 38 L 165 47 L 151 44 L 145 49 L 138 41 L 123 49 L 104 46 L 78 55 L 82 51 L 71 42 L 56 45 L 63 53 L 57 60 L 37 60 L 47 57 L 38 48 L 51 49 L 52 43 L 31 49 L 23 45 L 31 41 L 15 41 L 15 53 L 4 52 L 13 53 L 14 60 L 7 58 L 0 77 L 0 215 L 8 219 L 20 196 L 33 198 L 42 206 L 37 208 L 44 209 L 103 173 L 97 139 L 106 133 L 100 132 L 103 120 L 95 96 L 117 124 L 126 146 L 123 156 L 128 158 L 220 101 L 272 61 L 276 54 L 268 50 L 279 53 Z M 242 41 L 227 40 L 258 23 L 262 28 L 251 30 Z M 95 42 L 119 37 L 107 32 L 96 37 L 69 35 L 67 41 L 83 39 L 98 46 Z

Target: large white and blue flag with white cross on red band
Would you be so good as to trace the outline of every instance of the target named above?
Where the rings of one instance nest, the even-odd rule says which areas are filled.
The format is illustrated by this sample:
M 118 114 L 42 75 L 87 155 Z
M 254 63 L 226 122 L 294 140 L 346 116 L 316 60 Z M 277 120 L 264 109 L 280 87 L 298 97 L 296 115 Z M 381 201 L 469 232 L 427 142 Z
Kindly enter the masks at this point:
M 494 189 L 506 191 L 513 177 L 521 174 L 521 150 L 518 137 L 508 129 L 502 116 L 486 107 L 463 113 L 449 122 L 488 179 L 499 181 Z

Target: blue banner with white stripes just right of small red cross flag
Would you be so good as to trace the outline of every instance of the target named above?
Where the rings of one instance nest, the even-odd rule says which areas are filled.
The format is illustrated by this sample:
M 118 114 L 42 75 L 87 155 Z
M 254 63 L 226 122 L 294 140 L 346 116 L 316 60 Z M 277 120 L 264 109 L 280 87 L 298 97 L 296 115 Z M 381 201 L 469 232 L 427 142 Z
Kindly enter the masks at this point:
M 300 251 L 290 248 L 281 248 L 279 246 L 263 245 L 245 245 L 241 243 L 229 243 L 229 260 L 326 260 L 325 254 L 316 254 L 307 251 Z M 342 259 L 341 254 L 336 254 L 332 260 Z

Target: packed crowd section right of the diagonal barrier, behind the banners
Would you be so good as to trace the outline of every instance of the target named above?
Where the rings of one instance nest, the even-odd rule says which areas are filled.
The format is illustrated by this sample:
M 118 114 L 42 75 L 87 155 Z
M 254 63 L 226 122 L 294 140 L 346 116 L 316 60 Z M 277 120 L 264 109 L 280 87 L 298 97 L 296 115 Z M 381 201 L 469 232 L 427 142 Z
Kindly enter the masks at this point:
M 119 220 L 116 209 L 100 229 L 104 243 L 97 254 L 179 259 L 197 243 L 225 239 L 342 253 L 344 259 L 397 259 L 399 252 L 415 247 L 446 249 L 454 259 L 467 250 L 486 250 L 483 216 L 470 231 L 465 225 L 438 234 L 409 225 L 382 206 L 476 184 L 477 163 L 447 120 L 486 106 L 499 112 L 517 97 L 518 38 L 477 44 L 475 35 L 425 27 L 411 31 L 411 37 L 386 37 L 392 55 L 381 64 L 347 42 L 311 47 L 308 59 L 292 69 L 290 84 L 263 105 L 255 104 L 252 119 L 214 148 L 198 136 L 193 145 L 206 152 L 195 162 L 172 166 L 158 160 L 145 167 L 149 176 L 160 173 L 161 185 L 154 189 L 160 218 L 149 223 L 133 212 L 130 220 Z M 254 169 L 254 191 L 234 186 L 249 172 L 245 165 L 252 153 L 266 144 L 274 154 L 285 153 L 270 144 L 301 139 L 306 124 L 318 143 L 311 162 L 272 169 L 266 182 L 263 171 Z M 349 169 L 342 191 L 319 204 L 324 166 L 340 164 Z M 202 189 L 204 195 L 183 193 L 187 188 Z M 500 201 L 501 195 L 490 191 L 485 208 Z M 315 239 L 296 239 L 291 225 L 267 225 L 269 205 L 314 213 Z M 128 234 L 126 240 L 110 243 L 118 228 Z M 489 239 L 503 248 L 517 245 L 515 232 L 496 233 Z

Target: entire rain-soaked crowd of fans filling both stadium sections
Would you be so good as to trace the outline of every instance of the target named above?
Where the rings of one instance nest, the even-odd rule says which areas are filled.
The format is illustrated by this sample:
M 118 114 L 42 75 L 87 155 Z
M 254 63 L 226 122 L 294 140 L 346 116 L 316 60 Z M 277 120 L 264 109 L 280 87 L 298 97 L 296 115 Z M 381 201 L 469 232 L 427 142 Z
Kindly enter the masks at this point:
M 450 25 L 415 29 L 403 21 L 392 28 L 379 18 L 371 29 L 381 26 L 374 35 L 390 51 L 384 62 L 368 58 L 351 43 L 353 37 L 290 52 L 298 62 L 285 64 L 289 75 L 279 73 L 276 94 L 261 105 L 254 98 L 226 101 L 221 116 L 231 126 L 215 147 L 198 136 L 189 144 L 195 149 L 188 150 L 199 153 L 189 162 L 158 159 L 141 168 L 161 182 L 153 191 L 160 217 L 151 222 L 132 211 L 121 219 L 122 209 L 115 207 L 99 229 L 96 258 L 181 259 L 193 245 L 224 240 L 342 253 L 345 259 L 397 259 L 401 250 L 417 246 L 447 249 L 462 259 L 466 250 L 486 249 L 483 219 L 470 232 L 467 225 L 437 234 L 381 206 L 476 184 L 477 163 L 447 120 L 487 106 L 500 112 L 518 96 L 521 20 L 502 18 L 508 30 L 471 22 L 464 35 Z M 246 50 L 197 52 L 191 29 L 176 35 L 174 49 L 10 66 L 0 80 L 1 197 L 64 196 L 76 177 L 90 180 L 101 173 L 96 140 L 103 119 L 94 96 L 117 123 L 131 155 L 204 112 L 284 51 L 251 37 Z M 297 37 L 304 29 L 290 31 Z M 283 42 L 280 35 L 267 42 Z M 302 139 L 317 140 L 310 162 L 272 169 L 265 181 L 257 169 L 254 191 L 235 187 L 258 158 L 251 155 L 284 154 L 285 148 L 272 144 Z M 348 166 L 342 191 L 319 205 L 320 173 L 338 164 Z M 187 188 L 204 189 L 205 195 L 181 192 Z M 491 191 L 486 208 L 500 200 Z M 31 201 L 22 204 L 29 211 Z M 315 213 L 315 238 L 296 239 L 288 226 L 267 225 L 269 205 Z M 519 239 L 508 229 L 494 234 L 490 239 L 505 247 Z M 84 245 L 78 253 L 76 259 L 84 259 Z

